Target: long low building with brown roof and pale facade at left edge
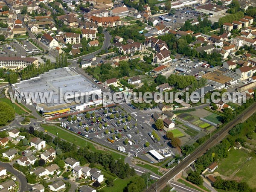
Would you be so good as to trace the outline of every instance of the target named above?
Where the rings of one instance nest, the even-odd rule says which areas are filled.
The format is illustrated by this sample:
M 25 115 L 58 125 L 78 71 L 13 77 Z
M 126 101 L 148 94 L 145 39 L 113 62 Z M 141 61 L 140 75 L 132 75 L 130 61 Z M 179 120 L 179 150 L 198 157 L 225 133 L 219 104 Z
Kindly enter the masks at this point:
M 20 69 L 34 64 L 38 67 L 38 59 L 31 57 L 0 57 L 0 68 Z

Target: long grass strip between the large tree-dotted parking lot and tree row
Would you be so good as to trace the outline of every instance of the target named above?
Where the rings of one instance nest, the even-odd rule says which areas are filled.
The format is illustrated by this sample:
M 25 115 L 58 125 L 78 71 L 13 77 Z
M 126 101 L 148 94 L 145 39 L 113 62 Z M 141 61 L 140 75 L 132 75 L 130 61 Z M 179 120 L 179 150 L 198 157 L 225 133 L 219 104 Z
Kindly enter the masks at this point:
M 80 136 L 75 136 L 67 131 L 64 131 L 62 128 L 56 128 L 55 126 L 51 126 L 51 125 L 41 125 L 45 130 L 47 130 L 48 132 L 50 132 L 51 134 L 57 135 L 57 131 L 58 131 L 58 137 L 64 138 L 64 140 L 69 141 L 70 143 L 75 143 L 76 145 L 80 146 L 80 147 L 84 147 L 84 146 L 89 146 L 89 149 L 91 151 L 99 151 L 97 150 L 94 145 L 90 142 L 86 142 L 86 140 L 84 140 L 84 138 L 80 137 Z M 107 151 L 108 153 L 113 155 L 114 159 L 125 159 L 125 156 L 117 154 L 115 152 L 112 151 Z

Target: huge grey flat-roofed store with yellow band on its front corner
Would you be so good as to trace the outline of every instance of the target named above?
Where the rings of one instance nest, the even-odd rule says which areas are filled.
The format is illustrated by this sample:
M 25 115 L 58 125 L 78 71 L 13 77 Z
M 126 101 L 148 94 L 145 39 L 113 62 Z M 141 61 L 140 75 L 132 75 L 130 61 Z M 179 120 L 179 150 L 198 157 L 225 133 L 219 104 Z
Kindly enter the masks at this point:
M 50 96 L 48 100 L 43 100 L 37 95 L 32 101 L 26 101 L 46 118 L 81 112 L 90 106 L 102 104 L 101 89 L 69 67 L 50 70 L 41 76 L 12 84 L 12 89 L 17 96 L 22 96 L 23 101 L 26 101 L 25 93 Z M 95 102 L 92 100 L 93 93 L 99 95 Z

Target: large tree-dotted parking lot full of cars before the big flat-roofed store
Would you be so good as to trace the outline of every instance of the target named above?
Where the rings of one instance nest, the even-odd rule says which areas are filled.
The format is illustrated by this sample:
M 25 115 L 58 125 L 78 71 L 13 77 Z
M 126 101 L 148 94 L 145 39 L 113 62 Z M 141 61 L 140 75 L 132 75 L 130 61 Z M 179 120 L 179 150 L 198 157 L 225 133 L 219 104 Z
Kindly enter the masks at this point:
M 149 137 L 148 133 L 153 131 L 152 123 L 148 120 L 151 115 L 145 119 L 145 122 L 140 122 L 141 124 L 138 125 L 135 119 L 128 116 L 127 113 L 116 107 L 96 110 L 94 113 L 90 112 L 90 118 L 86 118 L 86 113 L 81 113 L 77 116 L 76 121 L 69 122 L 67 118 L 60 120 L 66 123 L 65 128 L 81 137 L 113 149 L 123 146 L 126 153 L 137 154 L 145 160 L 152 161 L 142 154 L 152 149 L 157 150 L 163 147 L 163 144 L 166 147 L 166 143 L 163 140 L 160 143 L 154 143 Z M 125 140 L 131 141 L 132 144 L 125 145 Z M 144 145 L 147 141 L 150 144 L 149 147 L 145 148 Z

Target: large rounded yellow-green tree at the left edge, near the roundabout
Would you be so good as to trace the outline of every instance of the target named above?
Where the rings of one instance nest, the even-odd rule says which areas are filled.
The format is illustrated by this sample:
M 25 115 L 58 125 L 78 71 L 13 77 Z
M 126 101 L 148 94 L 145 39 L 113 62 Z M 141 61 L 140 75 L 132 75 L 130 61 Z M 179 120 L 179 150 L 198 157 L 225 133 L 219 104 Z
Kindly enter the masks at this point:
M 0 125 L 6 125 L 15 118 L 14 109 L 6 102 L 0 102 Z

